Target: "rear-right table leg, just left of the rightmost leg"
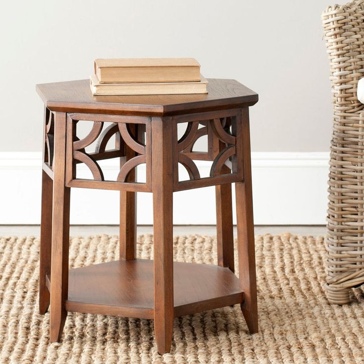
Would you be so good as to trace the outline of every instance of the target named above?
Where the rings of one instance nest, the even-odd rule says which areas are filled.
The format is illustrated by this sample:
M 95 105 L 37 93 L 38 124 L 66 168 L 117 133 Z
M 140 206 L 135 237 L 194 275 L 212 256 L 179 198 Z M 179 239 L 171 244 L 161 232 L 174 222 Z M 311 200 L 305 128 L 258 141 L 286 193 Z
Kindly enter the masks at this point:
M 218 264 L 234 272 L 231 184 L 217 185 L 215 194 Z

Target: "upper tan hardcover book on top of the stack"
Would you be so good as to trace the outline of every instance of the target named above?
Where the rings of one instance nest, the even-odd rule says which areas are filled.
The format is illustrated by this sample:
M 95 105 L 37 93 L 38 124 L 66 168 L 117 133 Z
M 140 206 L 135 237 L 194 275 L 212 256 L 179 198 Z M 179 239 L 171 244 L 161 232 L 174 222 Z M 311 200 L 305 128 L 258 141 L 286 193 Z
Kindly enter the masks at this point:
M 194 58 L 95 59 L 99 83 L 155 83 L 200 81 L 200 64 Z

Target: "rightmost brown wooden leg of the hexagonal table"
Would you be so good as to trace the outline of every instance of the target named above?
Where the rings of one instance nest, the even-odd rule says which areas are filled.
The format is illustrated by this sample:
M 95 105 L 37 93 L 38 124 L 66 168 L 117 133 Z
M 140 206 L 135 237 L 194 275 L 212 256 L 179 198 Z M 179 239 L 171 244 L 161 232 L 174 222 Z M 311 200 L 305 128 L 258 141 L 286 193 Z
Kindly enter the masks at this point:
M 245 300 L 241 304 L 251 333 L 258 332 L 257 283 L 253 222 L 252 176 L 250 159 L 249 111 L 242 109 L 244 181 L 235 183 L 236 225 L 239 256 L 239 281 Z

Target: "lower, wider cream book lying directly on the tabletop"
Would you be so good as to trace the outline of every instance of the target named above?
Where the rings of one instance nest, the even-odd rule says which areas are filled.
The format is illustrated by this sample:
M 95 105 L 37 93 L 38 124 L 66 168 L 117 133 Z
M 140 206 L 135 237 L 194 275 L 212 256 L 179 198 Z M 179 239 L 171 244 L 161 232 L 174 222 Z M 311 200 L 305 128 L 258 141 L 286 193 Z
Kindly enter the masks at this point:
M 164 82 L 139 84 L 100 84 L 96 75 L 90 76 L 94 95 L 171 95 L 180 93 L 207 93 L 208 81 L 201 75 L 198 82 Z

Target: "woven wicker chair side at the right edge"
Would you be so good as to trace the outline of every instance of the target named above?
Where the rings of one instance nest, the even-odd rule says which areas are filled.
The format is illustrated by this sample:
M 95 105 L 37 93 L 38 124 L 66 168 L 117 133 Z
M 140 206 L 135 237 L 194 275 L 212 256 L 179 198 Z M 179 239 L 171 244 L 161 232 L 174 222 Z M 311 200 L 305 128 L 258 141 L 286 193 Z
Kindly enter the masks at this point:
M 357 98 L 364 76 L 364 0 L 334 5 L 322 14 L 333 92 L 327 250 L 327 298 L 350 301 L 364 283 L 364 105 Z

